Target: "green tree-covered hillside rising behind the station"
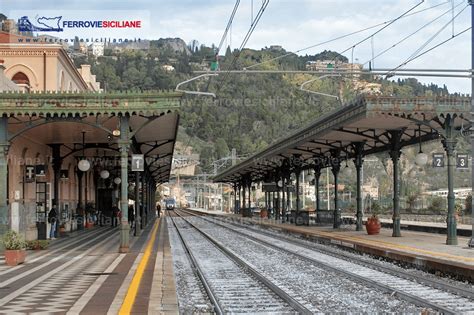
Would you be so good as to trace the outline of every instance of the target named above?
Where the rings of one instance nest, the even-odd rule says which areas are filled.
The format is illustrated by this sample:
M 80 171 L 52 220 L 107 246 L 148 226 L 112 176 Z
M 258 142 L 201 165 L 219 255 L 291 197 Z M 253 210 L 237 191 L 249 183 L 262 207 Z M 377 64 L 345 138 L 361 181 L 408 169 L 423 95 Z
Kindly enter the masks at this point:
M 232 64 L 237 51 L 232 52 L 227 48 L 225 54 L 216 59 L 214 46 L 199 45 L 197 41 L 191 42 L 187 47 L 184 45 L 180 39 L 160 39 L 150 41 L 146 50 L 106 49 L 105 56 L 79 57 L 75 58 L 75 62 L 77 65 L 91 63 L 93 73 L 107 91 L 174 89 L 179 82 L 195 76 L 193 70 L 208 70 L 211 63 L 217 60 L 221 70 L 246 69 L 262 62 L 265 63 L 253 69 L 303 70 L 308 61 L 348 62 L 346 57 L 331 51 L 305 56 L 290 54 L 273 60 L 288 53 L 280 46 L 272 46 L 261 50 L 244 49 Z M 201 155 L 200 168 L 203 172 L 212 172 L 211 163 L 228 156 L 232 148 L 236 149 L 239 156 L 256 153 L 296 128 L 342 106 L 334 98 L 299 90 L 303 82 L 312 78 L 314 76 L 309 74 L 230 74 L 194 81 L 186 88 L 214 92 L 217 98 L 192 95 L 185 97 L 181 107 L 178 139 L 185 148 L 191 147 L 194 153 Z M 414 78 L 388 81 L 365 76 L 360 80 L 380 83 L 381 93 L 384 95 L 449 94 L 446 86 L 424 85 Z M 338 95 L 347 101 L 357 95 L 353 84 L 353 80 L 349 79 L 326 78 L 313 82 L 307 88 Z M 443 152 L 439 142 L 426 144 L 424 148 L 426 153 Z M 458 151 L 468 152 L 468 149 L 468 143 L 461 138 Z M 404 150 L 406 163 L 409 163 L 406 169 L 414 168 L 412 161 L 415 155 L 416 148 Z M 387 157 L 380 157 L 381 161 L 383 159 Z M 421 171 L 423 177 L 426 176 L 431 183 L 430 189 L 445 186 L 445 172 L 431 168 Z M 380 185 L 389 191 L 390 178 L 385 177 L 387 180 L 383 180 Z M 469 185 L 468 178 L 468 174 L 459 174 L 456 185 Z M 342 180 L 344 181 L 344 176 Z

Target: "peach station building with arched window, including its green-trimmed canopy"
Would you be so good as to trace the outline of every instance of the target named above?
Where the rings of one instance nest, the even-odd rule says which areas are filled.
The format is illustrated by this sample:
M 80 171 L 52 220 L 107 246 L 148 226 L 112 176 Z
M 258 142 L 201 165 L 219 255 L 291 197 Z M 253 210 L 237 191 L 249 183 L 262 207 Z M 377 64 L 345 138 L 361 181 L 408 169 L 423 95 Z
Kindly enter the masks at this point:
M 0 235 L 46 238 L 53 206 L 65 232 L 113 205 L 126 220 L 130 189 L 136 208 L 151 209 L 169 177 L 181 95 L 101 93 L 90 65 L 76 68 L 62 45 L 14 36 L 0 33 Z M 129 183 L 132 153 L 144 155 L 145 171 Z

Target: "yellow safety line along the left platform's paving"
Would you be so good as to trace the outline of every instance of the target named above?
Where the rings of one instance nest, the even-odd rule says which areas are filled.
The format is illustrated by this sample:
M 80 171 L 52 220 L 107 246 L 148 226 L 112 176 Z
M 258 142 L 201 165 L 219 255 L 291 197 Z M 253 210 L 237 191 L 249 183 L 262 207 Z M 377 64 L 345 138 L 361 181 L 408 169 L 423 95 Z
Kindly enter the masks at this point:
M 122 307 L 120 308 L 120 315 L 130 314 L 130 312 L 132 311 L 133 304 L 135 303 L 135 298 L 137 297 L 138 288 L 140 287 L 140 282 L 145 272 L 145 267 L 148 264 L 148 260 L 150 259 L 151 250 L 153 248 L 153 243 L 155 242 L 156 232 L 158 231 L 159 223 L 160 219 L 155 222 L 155 226 L 153 227 L 153 231 L 151 232 L 151 237 L 148 240 L 143 257 L 140 261 L 140 264 L 138 265 L 137 270 L 135 271 L 135 275 L 133 276 L 132 282 L 128 287 L 127 295 L 125 296 Z

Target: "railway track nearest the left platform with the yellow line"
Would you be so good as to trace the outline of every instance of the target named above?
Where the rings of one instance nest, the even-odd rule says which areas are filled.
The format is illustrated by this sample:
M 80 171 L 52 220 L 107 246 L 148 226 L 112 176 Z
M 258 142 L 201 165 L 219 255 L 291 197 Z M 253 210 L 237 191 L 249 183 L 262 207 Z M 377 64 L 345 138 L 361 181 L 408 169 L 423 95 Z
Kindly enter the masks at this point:
M 311 314 L 303 305 L 192 223 L 173 215 L 170 216 L 170 221 L 217 314 Z

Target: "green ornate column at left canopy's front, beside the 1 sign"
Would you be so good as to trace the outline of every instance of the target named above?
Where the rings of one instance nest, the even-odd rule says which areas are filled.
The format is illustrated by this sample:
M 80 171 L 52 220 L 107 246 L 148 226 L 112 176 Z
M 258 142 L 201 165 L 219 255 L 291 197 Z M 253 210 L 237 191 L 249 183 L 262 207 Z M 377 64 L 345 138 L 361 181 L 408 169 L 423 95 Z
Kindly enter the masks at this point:
M 120 225 L 119 252 L 128 253 L 130 244 L 130 226 L 128 225 L 128 150 L 130 149 L 128 116 L 120 116 L 120 140 L 118 144 L 120 149 L 120 175 L 122 179 L 120 194 L 122 222 Z

